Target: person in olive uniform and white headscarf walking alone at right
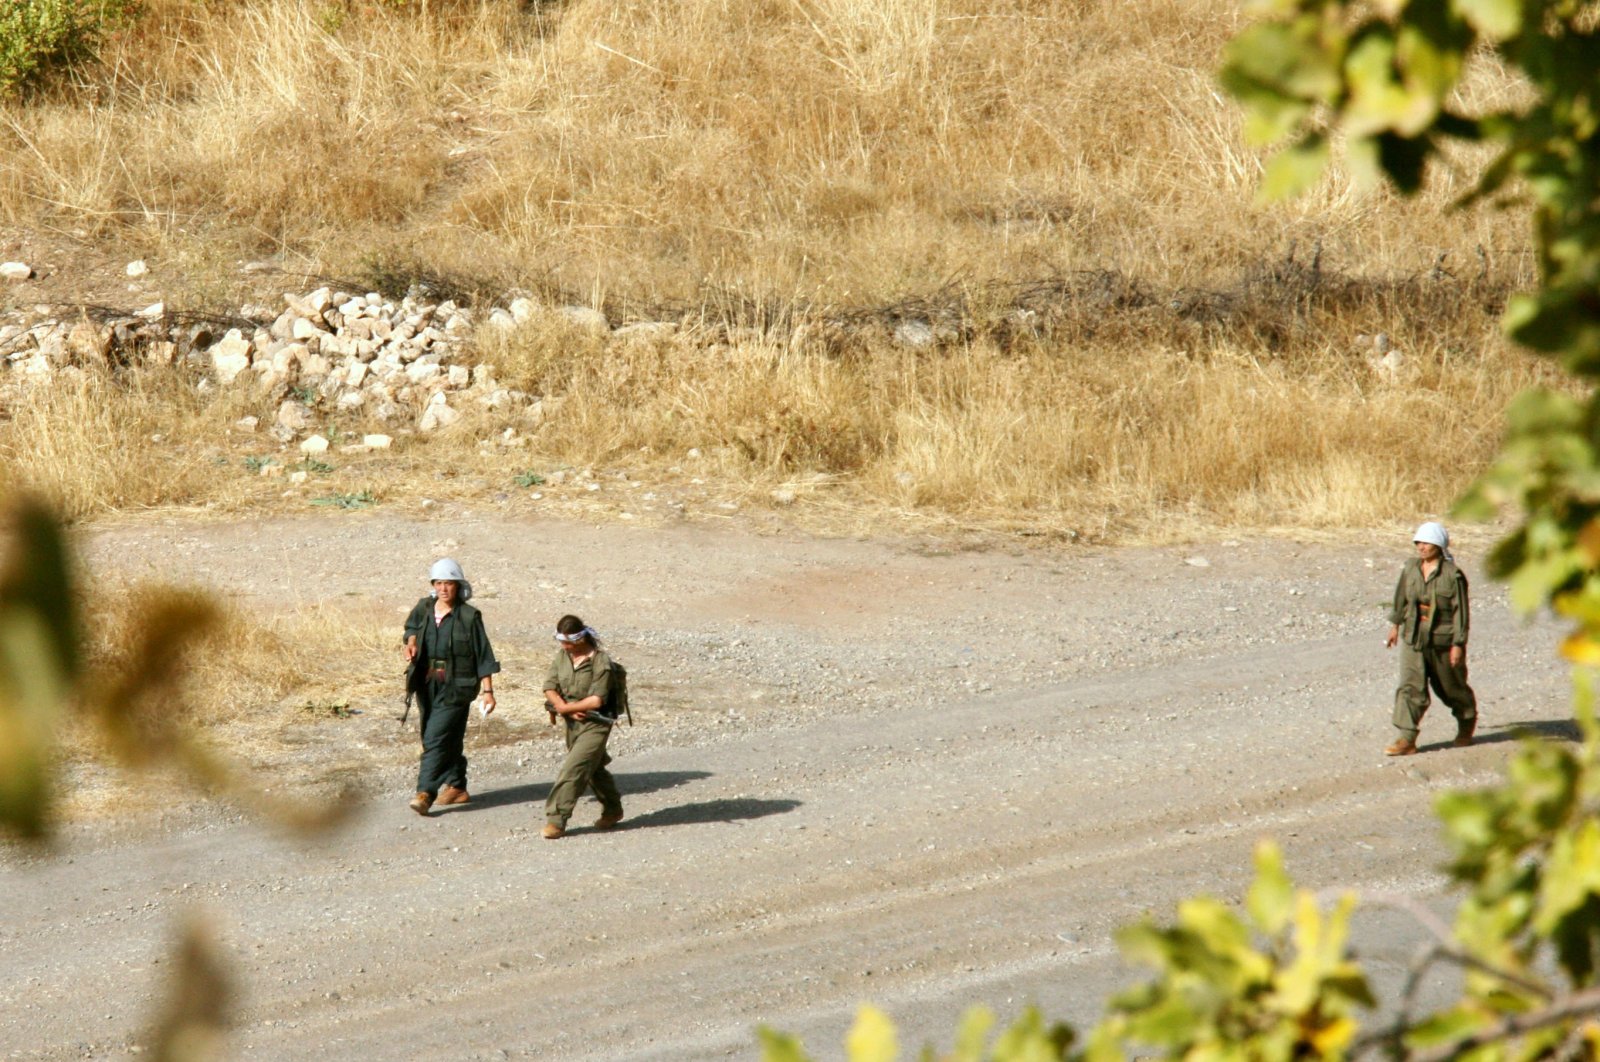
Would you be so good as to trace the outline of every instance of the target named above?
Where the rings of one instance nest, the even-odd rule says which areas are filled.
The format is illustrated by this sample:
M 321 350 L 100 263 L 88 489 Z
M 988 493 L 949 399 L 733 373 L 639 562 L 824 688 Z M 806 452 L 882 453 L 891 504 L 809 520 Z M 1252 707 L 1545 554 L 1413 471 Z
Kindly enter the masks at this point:
M 1467 685 L 1467 577 L 1450 555 L 1450 533 L 1443 525 L 1424 523 L 1411 537 L 1416 557 L 1400 571 L 1384 641 L 1387 648 L 1400 646 L 1394 712 L 1400 737 L 1384 749 L 1390 757 L 1416 755 L 1429 686 L 1456 717 L 1453 745 L 1470 745 L 1478 725 L 1478 699 Z

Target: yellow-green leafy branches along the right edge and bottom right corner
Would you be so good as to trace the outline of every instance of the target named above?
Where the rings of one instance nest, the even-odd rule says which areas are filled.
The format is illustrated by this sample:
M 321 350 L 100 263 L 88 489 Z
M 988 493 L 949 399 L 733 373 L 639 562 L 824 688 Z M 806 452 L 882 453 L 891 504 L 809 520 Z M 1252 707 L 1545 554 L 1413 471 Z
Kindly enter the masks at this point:
M 1262 144 L 1286 141 L 1264 174 L 1266 197 L 1322 179 L 1342 146 L 1370 182 L 1422 187 L 1446 141 L 1496 150 L 1469 197 L 1531 208 L 1539 286 L 1504 317 L 1517 342 L 1557 358 L 1587 397 L 1536 390 L 1509 413 L 1499 459 L 1459 512 L 1502 505 L 1523 523 L 1490 557 L 1514 603 L 1574 621 L 1563 654 L 1600 665 L 1600 5 L 1578 0 L 1262 0 L 1261 21 L 1232 42 L 1222 83 Z M 1469 62 L 1518 72 L 1533 102 L 1467 114 Z M 1174 926 L 1128 928 L 1120 944 L 1154 976 L 1114 998 L 1086 1035 L 1027 1012 L 994 1044 L 994 1017 L 973 1011 L 955 1048 L 925 1059 L 1035 1062 L 1186 1059 L 1272 1062 L 1384 1056 L 1413 1062 L 1600 1057 L 1600 728 L 1592 673 L 1576 675 L 1579 747 L 1530 741 L 1507 781 L 1438 800 L 1466 897 L 1456 924 L 1406 905 L 1427 937 L 1390 1019 L 1374 1011 L 1346 940 L 1357 897 L 1325 912 L 1296 891 L 1264 844 L 1243 912 L 1186 900 Z M 1419 1012 L 1416 990 L 1438 963 L 1462 969 L 1461 998 Z M 766 1062 L 800 1062 L 792 1038 L 762 1033 Z M 864 1009 L 851 1062 L 898 1056 L 893 1024 Z

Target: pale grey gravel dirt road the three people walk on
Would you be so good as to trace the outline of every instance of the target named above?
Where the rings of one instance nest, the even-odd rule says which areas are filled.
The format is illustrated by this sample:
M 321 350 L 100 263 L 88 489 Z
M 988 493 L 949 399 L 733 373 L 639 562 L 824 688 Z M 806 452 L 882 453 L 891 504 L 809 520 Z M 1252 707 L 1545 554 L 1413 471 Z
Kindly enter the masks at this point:
M 1462 537 L 1477 574 L 1488 536 Z M 154 836 L 0 856 L 0 1057 L 139 1044 L 194 908 L 242 980 L 248 1059 L 754 1057 L 758 1024 L 840 1057 L 862 1000 L 907 1046 L 947 1044 L 973 1001 L 1090 1022 L 1130 976 L 1112 931 L 1237 894 L 1262 835 L 1304 884 L 1437 897 L 1434 795 L 1494 779 L 1512 728 L 1568 734 L 1552 627 L 1477 577 L 1483 742 L 1445 747 L 1435 705 L 1426 755 L 1384 760 L 1403 541 L 971 550 L 453 512 L 86 542 L 101 569 L 395 624 L 442 550 L 507 664 L 506 718 L 469 734 L 477 801 L 406 811 L 414 747 L 371 710 L 318 731 L 322 755 L 394 749 L 322 844 L 174 795 Z M 534 691 L 563 611 L 627 659 L 640 720 L 614 742 L 624 828 L 549 843 Z M 1358 931 L 1381 979 L 1418 937 Z

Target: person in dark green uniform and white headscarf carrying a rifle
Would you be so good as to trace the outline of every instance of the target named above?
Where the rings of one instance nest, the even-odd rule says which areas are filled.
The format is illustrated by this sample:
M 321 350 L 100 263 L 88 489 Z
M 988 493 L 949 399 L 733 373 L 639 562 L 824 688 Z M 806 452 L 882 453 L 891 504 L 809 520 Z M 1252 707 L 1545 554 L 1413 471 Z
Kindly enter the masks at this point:
M 483 694 L 483 715 L 494 710 L 499 661 L 483 630 L 483 614 L 467 605 L 472 584 L 451 558 L 434 561 L 430 590 L 405 621 L 406 672 L 422 717 L 422 765 L 416 774 L 411 811 L 426 816 L 435 804 L 466 804 L 467 715 Z

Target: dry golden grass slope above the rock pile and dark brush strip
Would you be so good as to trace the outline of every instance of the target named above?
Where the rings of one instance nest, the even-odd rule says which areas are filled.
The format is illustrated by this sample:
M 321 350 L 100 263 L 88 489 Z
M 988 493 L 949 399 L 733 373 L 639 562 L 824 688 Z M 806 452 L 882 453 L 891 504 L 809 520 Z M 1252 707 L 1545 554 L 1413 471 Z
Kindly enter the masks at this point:
M 1222 0 L 152 0 L 93 91 L 0 114 L 0 218 L 349 266 L 373 248 L 635 301 L 878 302 L 1107 266 L 1213 281 L 1512 251 L 1330 179 L 1256 210 Z M 1512 91 L 1485 75 L 1472 98 Z

